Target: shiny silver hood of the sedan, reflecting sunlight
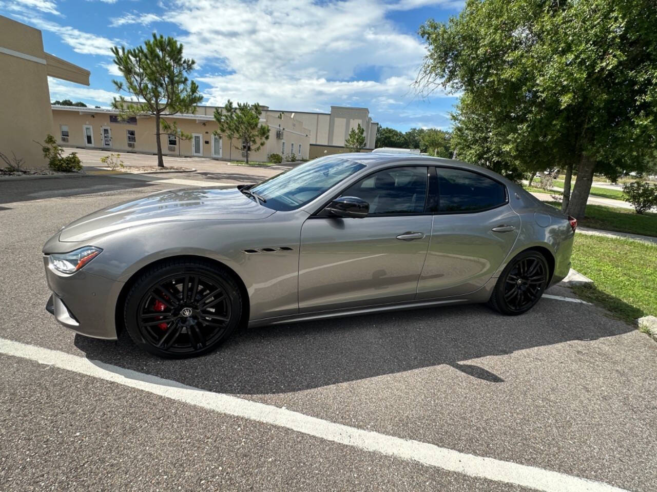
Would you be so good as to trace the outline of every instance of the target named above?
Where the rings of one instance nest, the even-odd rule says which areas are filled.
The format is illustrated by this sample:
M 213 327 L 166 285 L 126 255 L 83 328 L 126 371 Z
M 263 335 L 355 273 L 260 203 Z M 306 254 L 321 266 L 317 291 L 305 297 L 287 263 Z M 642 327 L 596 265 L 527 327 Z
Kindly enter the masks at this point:
M 59 240 L 79 242 L 125 228 L 179 220 L 258 220 L 273 210 L 246 197 L 237 188 L 170 190 L 112 205 L 71 222 Z

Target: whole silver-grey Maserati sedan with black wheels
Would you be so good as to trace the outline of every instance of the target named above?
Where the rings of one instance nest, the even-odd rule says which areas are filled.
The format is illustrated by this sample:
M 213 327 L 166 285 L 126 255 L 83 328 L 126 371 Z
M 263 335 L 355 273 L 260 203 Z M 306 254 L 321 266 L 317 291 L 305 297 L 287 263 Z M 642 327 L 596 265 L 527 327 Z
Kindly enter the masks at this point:
M 82 335 L 205 354 L 240 325 L 441 304 L 532 308 L 570 270 L 576 221 L 481 167 L 321 157 L 260 184 L 148 195 L 43 247 L 47 310 Z

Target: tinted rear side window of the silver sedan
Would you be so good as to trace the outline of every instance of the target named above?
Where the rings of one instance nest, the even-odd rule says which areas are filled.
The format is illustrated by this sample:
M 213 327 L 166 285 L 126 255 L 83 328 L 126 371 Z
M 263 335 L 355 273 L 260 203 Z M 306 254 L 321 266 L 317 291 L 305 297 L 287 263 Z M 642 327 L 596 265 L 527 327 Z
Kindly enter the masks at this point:
M 476 212 L 507 201 L 504 186 L 482 174 L 438 168 L 438 211 Z

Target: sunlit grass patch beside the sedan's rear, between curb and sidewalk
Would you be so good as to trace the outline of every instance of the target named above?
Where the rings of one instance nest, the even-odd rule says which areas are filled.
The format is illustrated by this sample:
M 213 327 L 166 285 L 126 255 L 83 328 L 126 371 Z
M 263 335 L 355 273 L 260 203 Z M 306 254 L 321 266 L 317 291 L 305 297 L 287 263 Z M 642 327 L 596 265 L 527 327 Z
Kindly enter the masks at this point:
M 572 266 L 595 287 L 573 287 L 628 323 L 657 316 L 657 246 L 627 239 L 575 235 Z

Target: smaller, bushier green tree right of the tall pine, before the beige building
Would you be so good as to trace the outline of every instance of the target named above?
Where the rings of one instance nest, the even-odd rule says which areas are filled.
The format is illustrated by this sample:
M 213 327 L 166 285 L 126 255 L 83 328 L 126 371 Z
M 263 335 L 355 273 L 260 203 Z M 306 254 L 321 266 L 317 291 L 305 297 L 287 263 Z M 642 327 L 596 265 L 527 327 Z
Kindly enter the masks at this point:
M 238 102 L 237 108 L 229 99 L 225 106 L 214 110 L 214 119 L 219 124 L 219 132 L 225 134 L 233 141 L 237 138 L 238 144 L 233 145 L 237 150 L 242 150 L 248 164 L 250 152 L 258 152 L 269 139 L 269 125 L 260 124 L 262 110 L 260 105 Z

